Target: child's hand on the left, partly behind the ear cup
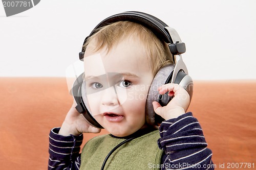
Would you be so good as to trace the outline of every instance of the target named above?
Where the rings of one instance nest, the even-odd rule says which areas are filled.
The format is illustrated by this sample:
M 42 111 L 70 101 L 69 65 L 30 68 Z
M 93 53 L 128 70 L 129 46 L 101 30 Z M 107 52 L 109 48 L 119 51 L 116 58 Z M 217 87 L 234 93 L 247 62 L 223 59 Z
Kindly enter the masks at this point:
M 81 133 L 99 133 L 101 129 L 91 126 L 75 107 L 76 103 L 74 101 L 58 134 L 62 136 L 69 136 L 70 134 L 78 136 Z

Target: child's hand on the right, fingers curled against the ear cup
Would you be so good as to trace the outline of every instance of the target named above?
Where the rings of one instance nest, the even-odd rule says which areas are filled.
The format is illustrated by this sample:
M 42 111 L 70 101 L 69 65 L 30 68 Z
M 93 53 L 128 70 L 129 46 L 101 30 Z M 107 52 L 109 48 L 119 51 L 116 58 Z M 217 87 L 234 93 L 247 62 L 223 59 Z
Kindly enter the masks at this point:
M 153 102 L 155 112 L 165 120 L 177 118 L 185 113 L 188 108 L 190 98 L 187 91 L 178 84 L 168 83 L 158 88 L 159 94 L 169 92 L 169 96 L 174 98 L 164 107 L 158 102 Z

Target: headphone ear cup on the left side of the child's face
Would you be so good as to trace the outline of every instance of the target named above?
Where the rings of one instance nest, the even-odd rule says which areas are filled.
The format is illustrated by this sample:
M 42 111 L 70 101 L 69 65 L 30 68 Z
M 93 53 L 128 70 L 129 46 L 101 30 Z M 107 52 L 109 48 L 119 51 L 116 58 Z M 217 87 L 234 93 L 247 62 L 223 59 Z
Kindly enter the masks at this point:
M 74 82 L 72 93 L 77 103 L 76 110 L 81 113 L 87 122 L 96 127 L 103 129 L 103 127 L 95 120 L 89 109 L 86 93 L 86 82 L 83 81 L 83 74 L 81 74 Z

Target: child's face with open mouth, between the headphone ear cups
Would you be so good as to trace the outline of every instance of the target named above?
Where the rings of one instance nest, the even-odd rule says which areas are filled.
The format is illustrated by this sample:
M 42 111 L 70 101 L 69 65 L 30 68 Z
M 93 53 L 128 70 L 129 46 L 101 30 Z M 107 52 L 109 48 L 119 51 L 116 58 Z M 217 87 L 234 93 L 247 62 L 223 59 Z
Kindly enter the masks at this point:
M 84 55 L 84 74 L 94 118 L 119 137 L 144 128 L 146 96 L 154 76 L 143 47 L 130 38 L 106 54 L 92 52 L 91 43 Z

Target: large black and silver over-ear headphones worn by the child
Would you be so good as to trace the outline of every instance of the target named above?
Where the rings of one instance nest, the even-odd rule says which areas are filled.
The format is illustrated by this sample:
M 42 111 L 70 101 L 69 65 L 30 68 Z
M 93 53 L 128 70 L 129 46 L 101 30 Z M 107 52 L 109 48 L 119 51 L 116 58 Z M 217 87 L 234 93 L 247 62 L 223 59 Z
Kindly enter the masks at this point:
M 155 113 L 152 102 L 157 101 L 161 106 L 166 106 L 168 102 L 172 100 L 172 97 L 168 96 L 168 92 L 165 94 L 158 93 L 157 88 L 159 86 L 167 83 L 180 84 L 188 92 L 190 101 L 193 95 L 193 80 L 188 76 L 186 65 L 181 56 L 181 54 L 186 51 L 185 43 L 181 41 L 175 29 L 168 27 L 163 21 L 155 16 L 137 11 L 129 11 L 110 16 L 101 21 L 94 28 L 91 34 L 86 37 L 83 44 L 87 42 L 90 36 L 97 32 L 97 29 L 117 21 L 131 21 L 139 23 L 151 30 L 160 40 L 168 44 L 175 63 L 167 65 L 157 72 L 152 81 L 151 87 L 148 90 L 145 106 L 146 123 L 152 126 L 159 126 L 164 119 Z M 79 59 L 81 61 L 83 61 L 85 51 L 86 49 L 82 47 L 82 51 L 79 53 Z M 90 125 L 103 129 L 103 127 L 92 116 L 89 107 L 87 107 L 89 105 L 83 84 L 83 74 L 81 74 L 75 80 L 72 87 L 72 94 L 77 104 L 76 110 L 86 118 Z

